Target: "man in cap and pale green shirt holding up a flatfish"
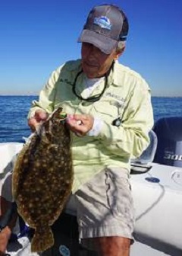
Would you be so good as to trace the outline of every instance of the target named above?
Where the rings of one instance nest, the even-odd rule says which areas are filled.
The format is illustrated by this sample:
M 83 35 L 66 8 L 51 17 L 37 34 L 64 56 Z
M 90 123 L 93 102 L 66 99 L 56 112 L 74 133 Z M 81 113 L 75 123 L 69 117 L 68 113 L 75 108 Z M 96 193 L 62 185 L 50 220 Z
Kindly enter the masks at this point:
M 67 113 L 73 132 L 71 201 L 81 242 L 102 256 L 127 256 L 133 240 L 130 158 L 149 144 L 153 116 L 145 80 L 118 63 L 128 21 L 114 5 L 89 12 L 79 42 L 81 59 L 64 63 L 33 101 L 28 123 L 35 130 L 55 108 Z M 67 203 L 67 210 L 71 203 Z

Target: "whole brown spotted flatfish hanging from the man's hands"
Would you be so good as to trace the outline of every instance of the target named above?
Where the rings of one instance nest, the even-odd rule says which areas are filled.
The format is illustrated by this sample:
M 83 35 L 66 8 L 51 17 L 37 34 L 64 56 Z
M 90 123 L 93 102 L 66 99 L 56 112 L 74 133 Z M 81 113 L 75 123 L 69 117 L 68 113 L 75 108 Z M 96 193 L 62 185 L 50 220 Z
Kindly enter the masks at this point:
M 14 165 L 14 200 L 20 216 L 35 229 L 31 250 L 37 252 L 54 244 L 50 226 L 63 210 L 73 183 L 71 133 L 61 111 L 58 107 L 33 133 Z

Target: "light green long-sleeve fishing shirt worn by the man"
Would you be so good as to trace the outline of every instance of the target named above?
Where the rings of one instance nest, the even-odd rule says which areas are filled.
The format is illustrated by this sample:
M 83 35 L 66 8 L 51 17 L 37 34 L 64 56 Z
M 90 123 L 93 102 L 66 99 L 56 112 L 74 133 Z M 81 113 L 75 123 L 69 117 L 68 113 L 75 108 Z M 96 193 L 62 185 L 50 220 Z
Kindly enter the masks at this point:
M 149 145 L 148 133 L 153 126 L 149 85 L 137 72 L 115 62 L 102 98 L 89 103 L 81 101 L 72 91 L 80 69 L 78 59 L 52 72 L 28 115 L 33 117 L 39 108 L 51 113 L 61 105 L 67 114 L 90 114 L 102 120 L 97 136 L 73 135 L 73 192 L 105 167 L 121 166 L 130 171 L 130 158 L 139 156 Z M 82 73 L 76 85 L 77 93 L 83 98 L 85 78 Z M 92 95 L 99 94 L 103 87 L 104 81 L 101 81 Z M 112 121 L 118 117 L 121 117 L 121 126 L 113 126 Z

